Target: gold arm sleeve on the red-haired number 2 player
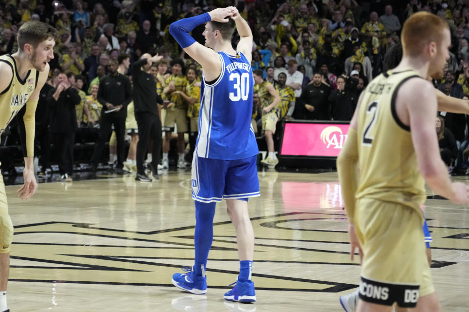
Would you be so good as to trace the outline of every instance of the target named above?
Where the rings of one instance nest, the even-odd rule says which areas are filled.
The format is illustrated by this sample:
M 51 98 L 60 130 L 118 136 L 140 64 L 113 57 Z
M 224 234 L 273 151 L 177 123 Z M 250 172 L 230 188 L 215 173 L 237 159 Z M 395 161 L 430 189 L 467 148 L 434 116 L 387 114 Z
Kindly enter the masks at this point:
M 357 129 L 350 127 L 345 145 L 337 157 L 337 173 L 341 184 L 345 211 L 350 223 L 355 213 L 355 194 L 358 188 L 358 146 Z

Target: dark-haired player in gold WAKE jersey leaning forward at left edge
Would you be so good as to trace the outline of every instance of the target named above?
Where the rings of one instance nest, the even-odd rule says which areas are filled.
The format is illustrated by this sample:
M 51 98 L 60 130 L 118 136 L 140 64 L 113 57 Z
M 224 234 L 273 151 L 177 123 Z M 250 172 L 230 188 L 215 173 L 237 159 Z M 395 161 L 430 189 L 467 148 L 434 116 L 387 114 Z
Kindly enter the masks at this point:
M 24 154 L 24 184 L 18 190 L 21 199 L 28 199 L 38 187 L 34 176 L 34 115 L 39 92 L 49 76 L 54 58 L 57 31 L 40 21 L 24 23 L 17 35 L 18 52 L 0 57 L 0 134 L 18 114 Z M 0 173 L 0 311 L 9 311 L 6 286 L 10 269 L 10 245 L 13 225 L 8 215 L 5 185 Z

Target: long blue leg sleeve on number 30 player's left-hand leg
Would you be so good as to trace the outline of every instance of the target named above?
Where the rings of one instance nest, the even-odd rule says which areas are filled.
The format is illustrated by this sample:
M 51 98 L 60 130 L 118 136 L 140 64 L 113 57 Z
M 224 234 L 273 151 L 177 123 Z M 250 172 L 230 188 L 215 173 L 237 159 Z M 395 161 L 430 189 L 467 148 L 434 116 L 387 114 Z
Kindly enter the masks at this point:
M 215 202 L 203 203 L 195 201 L 195 264 L 194 274 L 205 276 L 207 258 L 213 241 L 213 216 L 215 215 Z

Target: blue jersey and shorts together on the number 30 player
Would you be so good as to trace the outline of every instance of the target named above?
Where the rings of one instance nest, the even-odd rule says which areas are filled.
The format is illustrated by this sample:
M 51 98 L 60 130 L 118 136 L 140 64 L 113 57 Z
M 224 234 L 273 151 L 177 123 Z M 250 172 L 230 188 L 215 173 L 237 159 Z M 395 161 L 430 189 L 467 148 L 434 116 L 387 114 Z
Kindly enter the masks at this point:
M 251 125 L 254 78 L 246 57 L 218 52 L 215 81 L 203 77 L 199 135 L 192 159 L 192 198 L 202 202 L 259 196 Z

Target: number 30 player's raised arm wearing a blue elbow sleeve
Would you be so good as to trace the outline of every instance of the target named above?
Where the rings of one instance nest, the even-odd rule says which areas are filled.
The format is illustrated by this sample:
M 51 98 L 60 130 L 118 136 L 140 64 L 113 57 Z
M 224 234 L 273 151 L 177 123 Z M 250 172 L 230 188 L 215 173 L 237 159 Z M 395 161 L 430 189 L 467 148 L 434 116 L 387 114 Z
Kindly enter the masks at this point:
M 221 59 L 217 53 L 210 48 L 198 43 L 189 35 L 196 26 L 214 20 L 219 22 L 228 22 L 232 16 L 231 9 L 217 8 L 209 13 L 194 16 L 188 19 L 177 20 L 170 25 L 170 34 L 177 43 L 189 54 L 189 56 L 202 65 L 205 71 L 205 77 L 208 80 L 217 78 L 221 73 Z

